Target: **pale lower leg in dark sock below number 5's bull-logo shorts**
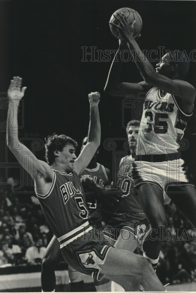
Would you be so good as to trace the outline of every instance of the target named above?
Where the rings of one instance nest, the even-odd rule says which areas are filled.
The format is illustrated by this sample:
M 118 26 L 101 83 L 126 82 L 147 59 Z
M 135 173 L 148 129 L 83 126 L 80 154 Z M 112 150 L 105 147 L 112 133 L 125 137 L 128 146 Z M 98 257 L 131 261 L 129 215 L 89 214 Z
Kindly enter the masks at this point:
M 83 292 L 84 281 L 82 274 L 74 270 L 70 265 L 68 266 L 69 274 L 69 292 Z

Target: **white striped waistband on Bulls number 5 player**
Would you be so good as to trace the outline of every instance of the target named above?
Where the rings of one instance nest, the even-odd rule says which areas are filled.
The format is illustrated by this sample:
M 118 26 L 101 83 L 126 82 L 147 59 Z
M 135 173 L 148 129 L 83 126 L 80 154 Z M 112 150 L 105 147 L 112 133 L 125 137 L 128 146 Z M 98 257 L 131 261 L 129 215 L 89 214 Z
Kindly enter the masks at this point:
M 77 239 L 78 237 L 84 235 L 85 233 L 92 230 L 92 227 L 90 226 L 89 222 L 83 223 L 81 226 L 75 228 L 74 230 L 64 234 L 63 236 L 57 238 L 60 243 L 60 248 L 66 246 L 73 240 Z

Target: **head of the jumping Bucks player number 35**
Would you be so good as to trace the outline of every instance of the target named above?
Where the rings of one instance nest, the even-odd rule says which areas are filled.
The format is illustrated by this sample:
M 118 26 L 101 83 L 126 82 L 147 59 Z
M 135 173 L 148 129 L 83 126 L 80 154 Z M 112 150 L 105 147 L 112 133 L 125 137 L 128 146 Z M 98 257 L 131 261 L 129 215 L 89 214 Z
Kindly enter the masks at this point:
M 169 78 L 184 79 L 190 68 L 190 61 L 179 50 L 166 53 L 157 63 L 156 72 Z

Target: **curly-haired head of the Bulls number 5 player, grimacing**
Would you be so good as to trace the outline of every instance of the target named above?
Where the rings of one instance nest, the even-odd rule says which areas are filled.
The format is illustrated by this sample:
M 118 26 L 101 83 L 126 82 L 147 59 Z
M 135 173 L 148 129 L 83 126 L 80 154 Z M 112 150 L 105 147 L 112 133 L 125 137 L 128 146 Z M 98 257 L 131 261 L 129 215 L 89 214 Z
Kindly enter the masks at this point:
M 73 163 L 76 159 L 75 149 L 77 142 L 64 134 L 53 133 L 45 138 L 45 158 L 51 166 L 54 162 L 64 165 L 66 171 L 73 170 Z

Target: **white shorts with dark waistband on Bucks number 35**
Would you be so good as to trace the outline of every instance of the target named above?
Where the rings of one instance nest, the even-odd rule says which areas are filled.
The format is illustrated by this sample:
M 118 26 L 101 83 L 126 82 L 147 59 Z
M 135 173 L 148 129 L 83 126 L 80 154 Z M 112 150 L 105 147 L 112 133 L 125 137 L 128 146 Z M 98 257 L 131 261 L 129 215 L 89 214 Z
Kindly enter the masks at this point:
M 134 187 L 137 189 L 139 185 L 145 183 L 156 184 L 157 192 L 164 195 L 164 204 L 169 204 L 171 201 L 166 195 L 168 186 L 179 186 L 181 192 L 185 193 L 183 185 L 193 184 L 189 183 L 186 178 L 186 173 L 182 167 L 184 161 L 175 159 L 177 155 L 179 157 L 179 154 L 136 156 L 135 161 L 132 163 Z M 163 158 L 165 161 L 161 161 Z

